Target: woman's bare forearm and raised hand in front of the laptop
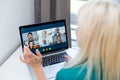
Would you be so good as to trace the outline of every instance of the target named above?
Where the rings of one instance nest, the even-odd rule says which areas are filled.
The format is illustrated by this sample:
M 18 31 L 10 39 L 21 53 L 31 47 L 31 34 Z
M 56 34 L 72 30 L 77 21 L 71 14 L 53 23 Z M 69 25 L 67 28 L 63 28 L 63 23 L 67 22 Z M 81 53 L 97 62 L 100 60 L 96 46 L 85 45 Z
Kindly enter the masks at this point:
M 42 55 L 38 50 L 36 50 L 36 54 L 34 55 L 28 47 L 24 46 L 24 55 L 23 58 L 20 56 L 20 60 L 32 67 L 37 80 L 47 80 L 41 63 Z

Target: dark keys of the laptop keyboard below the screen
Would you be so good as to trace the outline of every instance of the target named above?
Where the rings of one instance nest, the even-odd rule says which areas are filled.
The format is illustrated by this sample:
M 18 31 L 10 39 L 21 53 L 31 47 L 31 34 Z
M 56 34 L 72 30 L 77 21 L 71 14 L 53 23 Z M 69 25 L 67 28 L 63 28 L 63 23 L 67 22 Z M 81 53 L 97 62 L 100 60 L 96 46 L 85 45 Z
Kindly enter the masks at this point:
M 43 57 L 43 67 L 66 61 L 64 55 L 67 55 L 67 53 L 61 52 L 58 54 Z

